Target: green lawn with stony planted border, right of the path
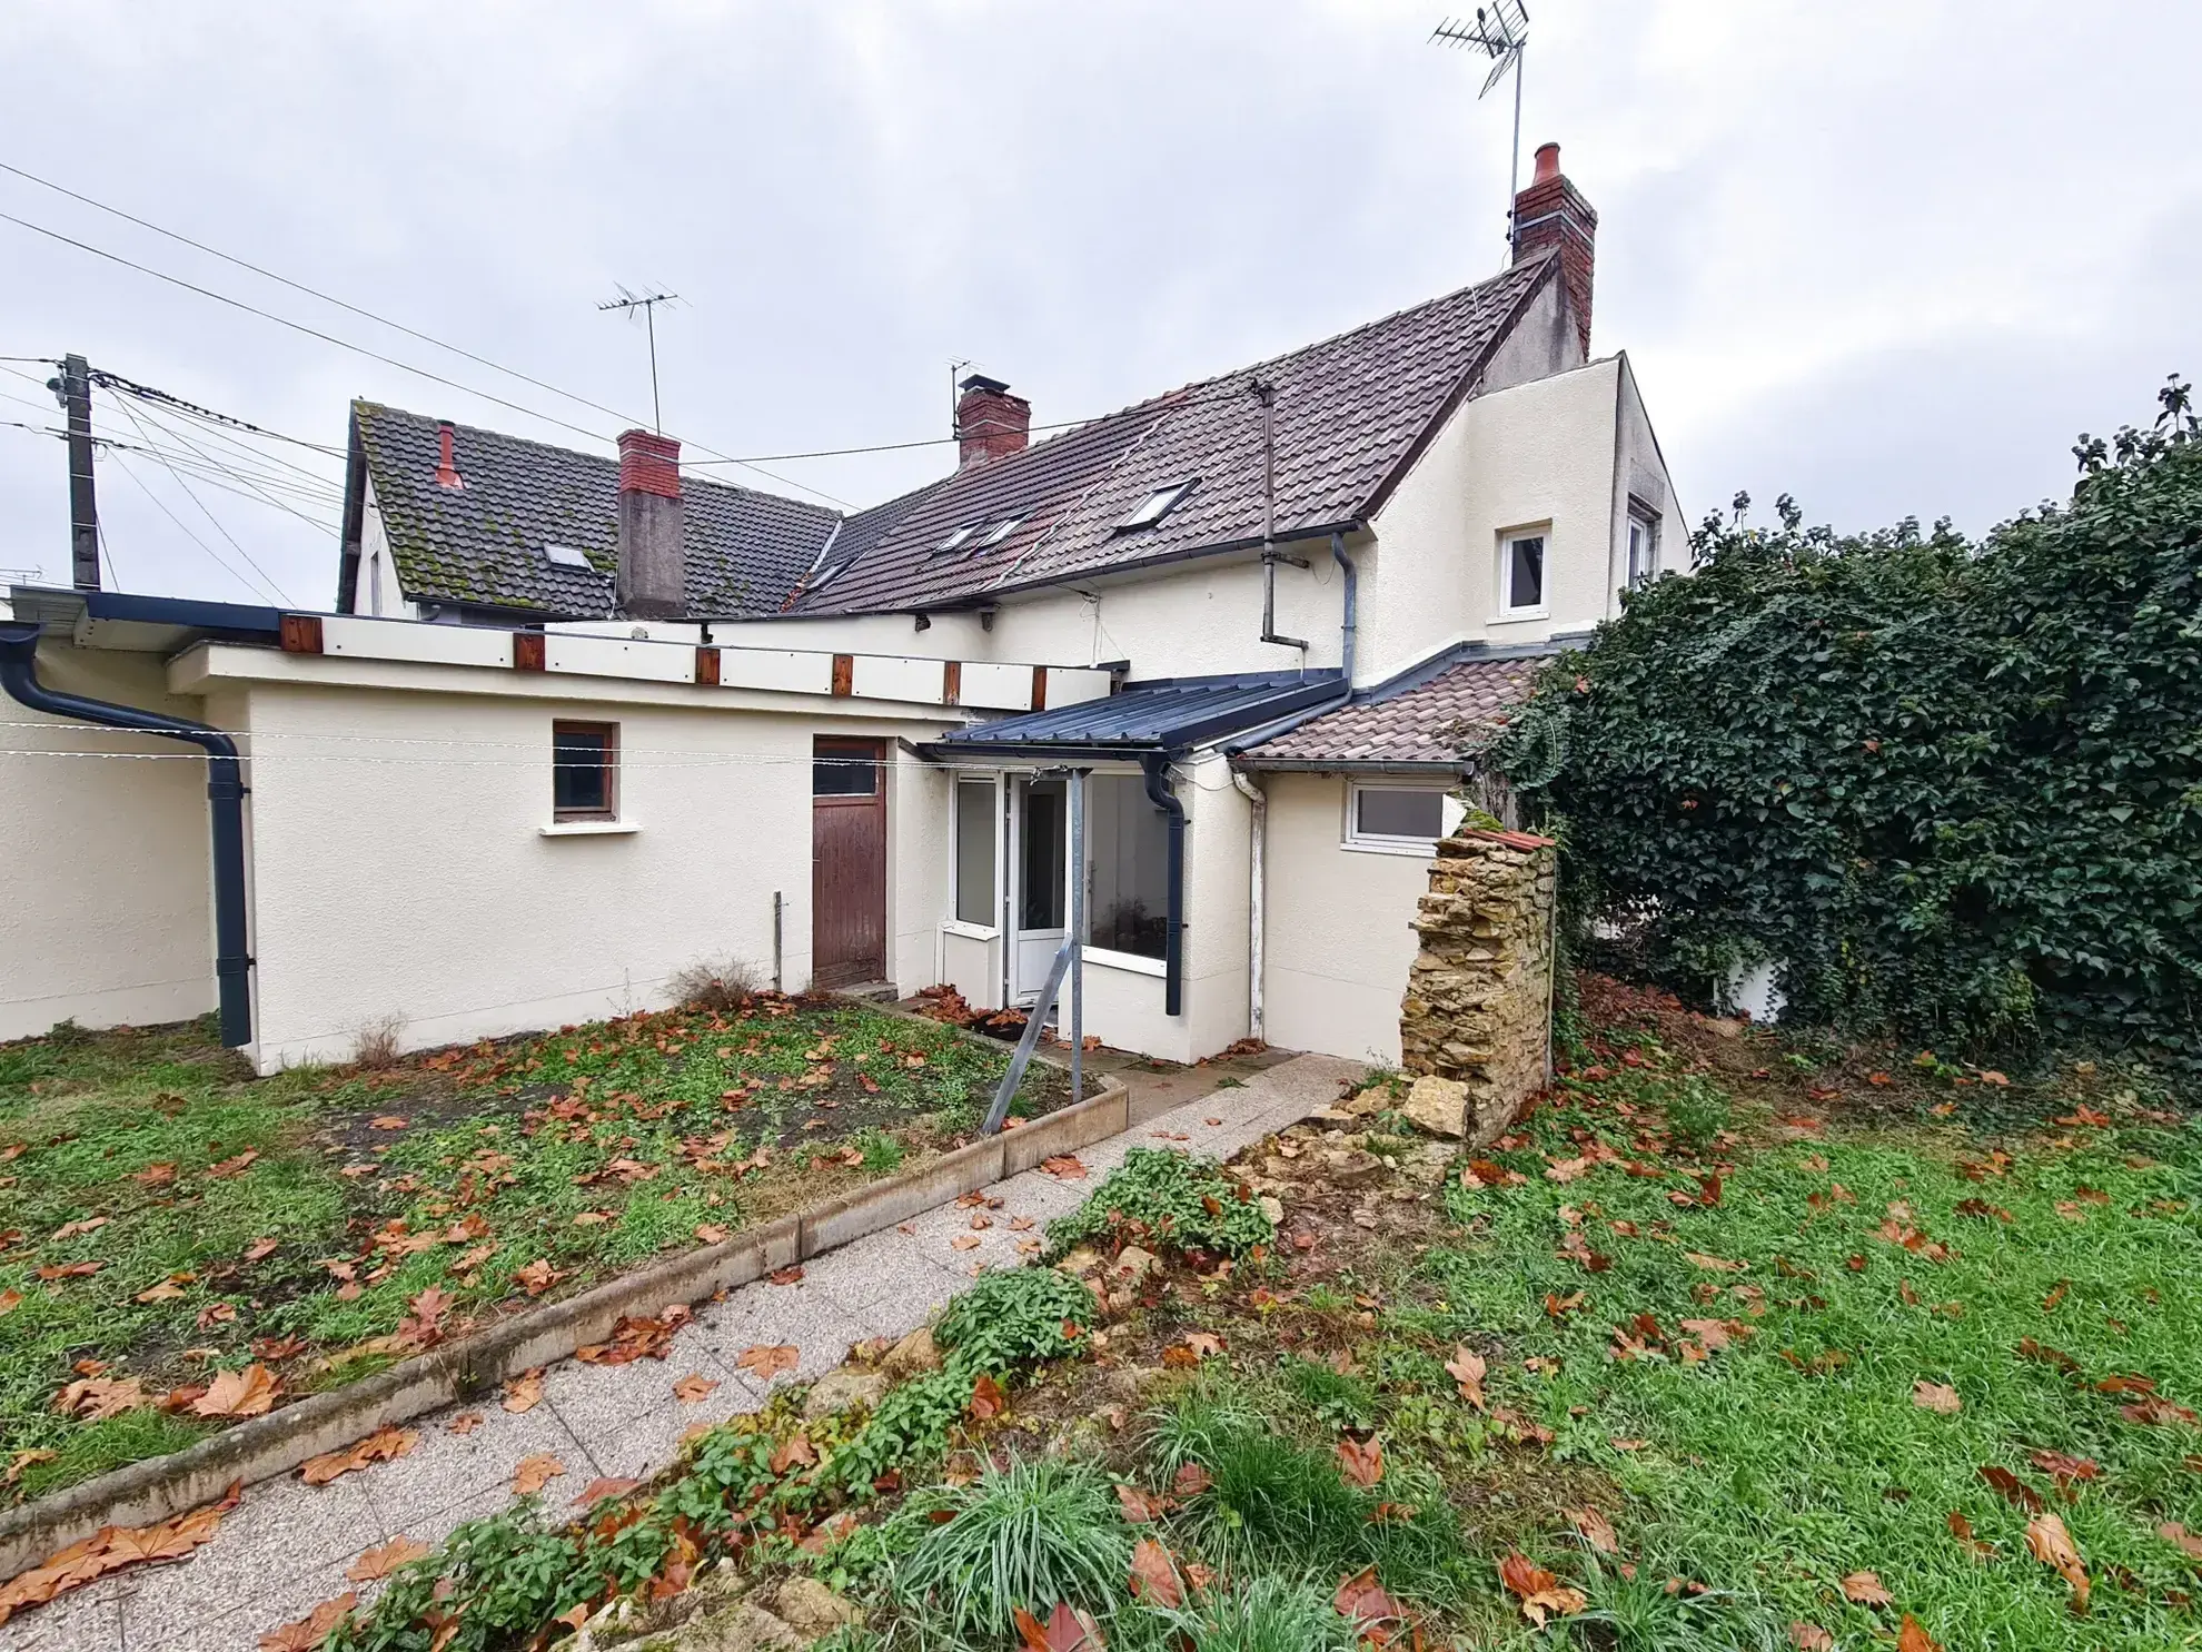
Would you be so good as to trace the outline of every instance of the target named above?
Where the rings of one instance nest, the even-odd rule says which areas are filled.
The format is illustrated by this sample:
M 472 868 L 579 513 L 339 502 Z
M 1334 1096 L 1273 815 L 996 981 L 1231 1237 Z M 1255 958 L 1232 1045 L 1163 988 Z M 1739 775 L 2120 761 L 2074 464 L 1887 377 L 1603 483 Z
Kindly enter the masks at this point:
M 1585 1022 L 1482 1154 L 1389 1084 L 1229 1167 L 1136 1152 L 874 1410 L 784 1390 L 315 1634 L 625 1601 L 617 1645 L 808 1577 L 837 1652 L 2202 1645 L 2198 1126 L 1610 982 Z

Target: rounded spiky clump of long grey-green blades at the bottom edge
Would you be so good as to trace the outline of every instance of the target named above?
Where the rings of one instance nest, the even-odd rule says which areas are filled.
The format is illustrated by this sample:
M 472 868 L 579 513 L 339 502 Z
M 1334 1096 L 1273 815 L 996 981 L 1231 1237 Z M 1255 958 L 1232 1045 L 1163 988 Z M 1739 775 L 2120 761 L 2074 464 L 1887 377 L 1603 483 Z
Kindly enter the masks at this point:
M 936 1612 L 956 1645 L 1013 1645 L 1020 1606 L 1044 1619 L 1070 1601 L 1105 1617 L 1125 1599 L 1132 1535 L 1086 1463 L 989 1463 L 971 1485 L 912 1498 L 890 1524 L 918 1533 L 892 1593 Z

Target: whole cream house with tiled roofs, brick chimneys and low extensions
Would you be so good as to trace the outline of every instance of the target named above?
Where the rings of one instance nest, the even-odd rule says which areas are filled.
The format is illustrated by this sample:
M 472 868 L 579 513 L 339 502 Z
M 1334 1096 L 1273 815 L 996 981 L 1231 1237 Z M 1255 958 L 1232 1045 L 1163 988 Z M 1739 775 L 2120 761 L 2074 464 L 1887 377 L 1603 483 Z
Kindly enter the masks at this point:
M 0 1037 L 220 1000 L 266 1070 L 705 958 L 995 1007 L 1083 903 L 1105 1042 L 1396 1059 L 1462 731 L 1680 544 L 1557 145 L 1515 211 L 1491 280 L 1048 441 L 971 377 L 850 515 L 355 403 L 330 612 L 13 593 Z

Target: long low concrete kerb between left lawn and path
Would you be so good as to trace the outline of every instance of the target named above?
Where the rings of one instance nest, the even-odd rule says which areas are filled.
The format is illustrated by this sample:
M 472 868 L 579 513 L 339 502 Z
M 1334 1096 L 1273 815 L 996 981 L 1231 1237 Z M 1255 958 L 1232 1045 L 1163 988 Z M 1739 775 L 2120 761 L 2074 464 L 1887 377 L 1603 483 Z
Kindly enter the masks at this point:
M 989 1040 L 991 1044 L 993 1040 Z M 128 1463 L 95 1480 L 0 1513 L 0 1582 L 46 1559 L 101 1526 L 143 1526 L 211 1502 L 233 1482 L 258 1485 L 288 1474 L 310 1456 L 363 1441 L 390 1423 L 476 1399 L 506 1377 L 566 1359 L 606 1341 L 621 1315 L 656 1315 L 676 1302 L 698 1302 L 762 1280 L 850 1240 L 1033 1170 L 1042 1159 L 1077 1152 L 1134 1123 L 1119 1079 L 1099 1095 L 956 1148 L 901 1176 L 887 1176 L 810 1209 L 735 1233 L 724 1245 L 667 1258 L 606 1280 L 564 1302 L 515 1313 L 495 1326 L 416 1355 L 390 1370 L 310 1394 L 266 1416 L 253 1416 L 170 1456 Z

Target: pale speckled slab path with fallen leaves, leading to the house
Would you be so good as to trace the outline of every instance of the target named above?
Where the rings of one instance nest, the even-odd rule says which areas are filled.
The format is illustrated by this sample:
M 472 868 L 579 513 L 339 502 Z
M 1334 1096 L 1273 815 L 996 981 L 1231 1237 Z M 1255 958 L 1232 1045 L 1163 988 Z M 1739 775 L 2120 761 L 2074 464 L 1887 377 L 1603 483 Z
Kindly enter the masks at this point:
M 24 1612 L 0 1626 L 0 1652 L 253 1652 L 266 1630 L 324 1599 L 357 1590 L 370 1601 L 377 1584 L 344 1575 L 363 1551 L 399 1535 L 438 1544 L 460 1522 L 509 1504 L 522 1458 L 548 1454 L 564 1465 L 544 1487 L 553 1511 L 599 1476 L 647 1478 L 674 1460 L 685 1430 L 753 1412 L 777 1383 L 810 1381 L 839 1366 L 850 1344 L 916 1330 L 978 1271 L 1028 1260 L 1020 1242 L 1037 1240 L 1048 1218 L 1075 1209 L 1125 1150 L 1156 1145 L 1227 1159 L 1328 1106 L 1339 1084 L 1361 1073 L 1356 1062 L 1297 1055 L 1242 1088 L 1178 1101 L 1213 1079 L 1200 1070 L 1167 1079 L 1127 1070 L 1134 1093 L 1145 1093 L 1136 1099 L 1176 1106 L 1081 1150 L 1088 1181 L 1057 1181 L 1037 1170 L 1013 1176 L 986 1189 L 1004 1200 L 989 1211 L 993 1227 L 973 1233 L 969 1209 L 942 1205 L 905 1222 L 907 1231 L 887 1229 L 813 1258 L 795 1284 L 760 1280 L 731 1291 L 700 1306 L 665 1361 L 568 1359 L 544 1374 L 544 1399 L 528 1412 L 506 1412 L 498 1399 L 434 1412 L 410 1423 L 421 1441 L 394 1463 L 326 1487 L 297 1476 L 264 1480 L 189 1559 L 117 1573 Z M 1013 1229 L 1017 1216 L 1033 1218 L 1033 1227 Z M 978 1245 L 956 1249 L 956 1238 Z M 793 1344 L 802 1359 L 762 1383 L 735 1363 L 760 1344 Z M 683 1403 L 674 1383 L 691 1374 L 718 1385 Z M 465 1416 L 478 1423 L 454 1432 Z

